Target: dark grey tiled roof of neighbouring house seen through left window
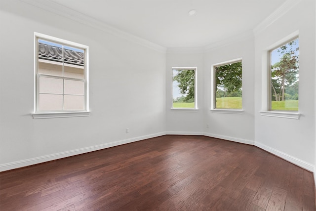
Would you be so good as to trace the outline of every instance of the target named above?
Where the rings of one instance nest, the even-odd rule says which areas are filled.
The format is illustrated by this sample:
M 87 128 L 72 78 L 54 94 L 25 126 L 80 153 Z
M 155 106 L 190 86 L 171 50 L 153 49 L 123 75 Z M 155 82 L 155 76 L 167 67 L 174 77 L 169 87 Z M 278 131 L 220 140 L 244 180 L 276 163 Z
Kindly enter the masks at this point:
M 39 42 L 39 58 L 51 61 L 62 62 L 63 54 L 62 48 L 57 46 L 52 46 L 49 44 L 44 44 Z M 83 52 L 70 50 L 64 48 L 64 62 L 68 64 L 83 65 L 84 55 Z

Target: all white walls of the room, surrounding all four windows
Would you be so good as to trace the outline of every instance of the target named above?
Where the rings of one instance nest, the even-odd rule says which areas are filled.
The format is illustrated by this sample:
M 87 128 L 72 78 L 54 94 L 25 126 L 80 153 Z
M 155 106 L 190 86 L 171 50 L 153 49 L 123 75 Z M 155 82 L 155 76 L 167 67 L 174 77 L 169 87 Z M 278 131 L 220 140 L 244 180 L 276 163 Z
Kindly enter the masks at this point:
M 269 17 L 254 36 L 164 53 L 19 0 L 0 1 L 0 170 L 163 134 L 199 134 L 255 144 L 316 171 L 316 5 L 291 2 L 297 5 Z M 262 52 L 297 30 L 301 118 L 261 116 Z M 89 117 L 32 119 L 34 32 L 89 46 Z M 244 112 L 212 113 L 211 66 L 240 57 Z M 196 112 L 171 110 L 173 66 L 197 66 Z

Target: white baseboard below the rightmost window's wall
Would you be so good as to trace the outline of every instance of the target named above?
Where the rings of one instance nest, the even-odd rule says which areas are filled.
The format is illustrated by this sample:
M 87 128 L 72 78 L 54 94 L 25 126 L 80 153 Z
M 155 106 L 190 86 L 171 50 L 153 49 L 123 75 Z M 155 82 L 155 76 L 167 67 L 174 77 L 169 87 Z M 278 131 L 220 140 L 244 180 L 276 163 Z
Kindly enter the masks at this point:
M 299 167 L 302 167 L 303 169 L 307 169 L 311 172 L 314 172 L 314 176 L 315 176 L 315 166 L 313 164 L 302 161 L 298 158 L 295 158 L 291 155 L 288 155 L 284 152 L 276 150 L 276 149 L 269 147 L 267 145 L 264 145 L 262 143 L 255 142 L 255 146 L 257 146 L 263 150 L 266 150 L 266 151 L 268 151 L 268 152 L 270 152 L 270 153 L 272 153 L 272 154 L 274 154 L 274 155 L 276 155 L 276 156 L 278 156 L 278 157 L 280 157 L 280 158 L 282 158 L 282 159 L 284 159 L 292 164 L 295 164 L 296 166 L 299 166 Z

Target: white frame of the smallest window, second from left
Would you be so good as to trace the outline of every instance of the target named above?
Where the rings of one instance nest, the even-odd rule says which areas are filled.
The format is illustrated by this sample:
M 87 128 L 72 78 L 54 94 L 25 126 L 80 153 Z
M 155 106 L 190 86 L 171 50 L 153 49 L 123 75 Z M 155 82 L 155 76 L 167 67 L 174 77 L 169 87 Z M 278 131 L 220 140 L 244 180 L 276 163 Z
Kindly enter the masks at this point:
M 171 68 L 171 111 L 174 112 L 195 112 L 197 107 L 197 67 L 172 67 Z M 194 108 L 173 108 L 173 70 L 193 70 L 194 71 Z

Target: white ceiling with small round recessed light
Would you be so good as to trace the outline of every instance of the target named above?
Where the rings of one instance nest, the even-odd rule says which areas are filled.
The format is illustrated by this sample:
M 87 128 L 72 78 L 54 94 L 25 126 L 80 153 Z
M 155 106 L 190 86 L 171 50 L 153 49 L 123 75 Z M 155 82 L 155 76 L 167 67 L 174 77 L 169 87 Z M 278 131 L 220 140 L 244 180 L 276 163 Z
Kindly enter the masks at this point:
M 204 47 L 251 31 L 286 0 L 50 0 L 163 47 Z M 195 16 L 188 12 L 196 9 Z

